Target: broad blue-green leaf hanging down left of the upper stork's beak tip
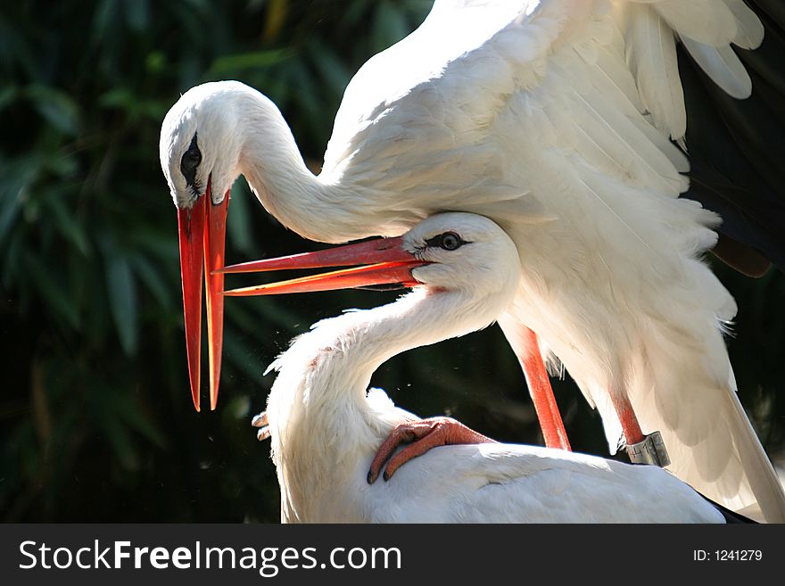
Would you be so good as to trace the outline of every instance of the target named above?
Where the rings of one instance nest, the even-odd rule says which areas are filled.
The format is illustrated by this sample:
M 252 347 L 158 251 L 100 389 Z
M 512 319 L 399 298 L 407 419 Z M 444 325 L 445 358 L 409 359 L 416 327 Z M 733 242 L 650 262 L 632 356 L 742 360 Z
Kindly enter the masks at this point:
M 128 356 L 136 354 L 139 324 L 136 318 L 136 281 L 128 259 L 120 254 L 106 257 L 106 289 L 120 344 Z

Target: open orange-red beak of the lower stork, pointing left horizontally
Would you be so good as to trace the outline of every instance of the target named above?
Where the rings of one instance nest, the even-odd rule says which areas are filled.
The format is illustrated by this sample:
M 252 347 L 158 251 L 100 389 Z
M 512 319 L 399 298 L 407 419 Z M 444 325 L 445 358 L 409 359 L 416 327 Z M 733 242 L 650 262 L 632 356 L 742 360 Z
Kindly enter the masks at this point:
M 326 251 L 305 252 L 277 259 L 255 260 L 219 269 L 219 274 L 247 273 L 290 268 L 348 267 L 321 275 L 232 289 L 225 295 L 243 297 L 280 293 L 310 293 L 351 289 L 370 285 L 418 285 L 411 275 L 413 268 L 428 264 L 402 248 L 402 238 L 380 238 L 368 242 L 348 244 Z M 364 266 L 356 266 L 364 265 Z

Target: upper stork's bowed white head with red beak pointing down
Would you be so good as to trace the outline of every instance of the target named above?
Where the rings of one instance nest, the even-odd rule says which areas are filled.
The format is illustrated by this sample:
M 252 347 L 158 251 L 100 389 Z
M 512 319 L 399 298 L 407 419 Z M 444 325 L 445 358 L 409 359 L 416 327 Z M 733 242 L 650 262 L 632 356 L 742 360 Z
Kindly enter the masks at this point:
M 223 276 L 229 190 L 239 175 L 241 138 L 237 82 L 194 87 L 172 106 L 161 126 L 161 169 L 178 209 L 180 274 L 186 318 L 191 394 L 200 407 L 202 274 L 207 283 L 211 409 L 218 399 L 223 338 Z M 206 272 L 203 271 L 206 268 Z

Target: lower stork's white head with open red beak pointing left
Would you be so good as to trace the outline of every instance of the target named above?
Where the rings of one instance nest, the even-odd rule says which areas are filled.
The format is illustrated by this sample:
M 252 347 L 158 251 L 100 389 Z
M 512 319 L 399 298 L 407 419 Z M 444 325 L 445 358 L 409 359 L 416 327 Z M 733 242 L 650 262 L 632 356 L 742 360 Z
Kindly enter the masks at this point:
M 360 266 L 355 266 L 360 265 Z M 269 295 L 331 291 L 370 285 L 425 286 L 430 293 L 458 293 L 471 308 L 465 334 L 487 326 L 512 301 L 520 279 L 515 243 L 492 220 L 470 213 L 442 213 L 405 235 L 348 244 L 319 252 L 257 260 L 222 273 L 353 266 L 290 281 L 227 291 L 227 295 Z

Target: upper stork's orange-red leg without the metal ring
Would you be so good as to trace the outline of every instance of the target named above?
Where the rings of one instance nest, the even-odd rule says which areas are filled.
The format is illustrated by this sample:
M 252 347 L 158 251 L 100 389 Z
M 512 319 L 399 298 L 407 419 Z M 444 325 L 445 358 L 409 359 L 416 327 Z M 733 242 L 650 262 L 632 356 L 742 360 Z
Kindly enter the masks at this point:
M 508 314 L 500 318 L 499 325 L 524 369 L 545 445 L 549 448 L 571 450 L 548 372 L 545 370 L 545 362 L 542 360 L 537 334 Z

